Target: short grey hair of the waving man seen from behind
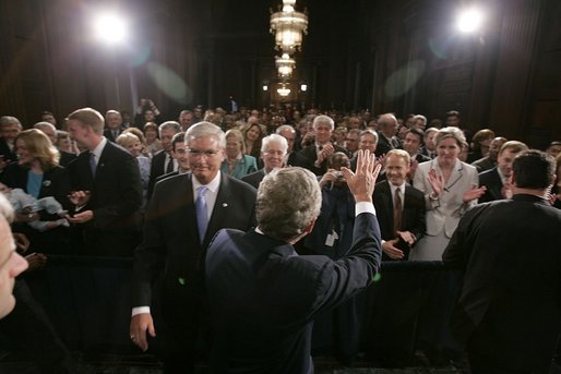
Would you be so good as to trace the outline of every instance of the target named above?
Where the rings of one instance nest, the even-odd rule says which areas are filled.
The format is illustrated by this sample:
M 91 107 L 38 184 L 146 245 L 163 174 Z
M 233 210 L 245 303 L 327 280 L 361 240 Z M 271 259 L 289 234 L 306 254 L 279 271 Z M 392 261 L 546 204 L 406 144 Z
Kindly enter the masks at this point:
M 275 169 L 259 185 L 255 218 L 267 236 L 289 242 L 301 236 L 320 215 L 317 177 L 302 168 Z

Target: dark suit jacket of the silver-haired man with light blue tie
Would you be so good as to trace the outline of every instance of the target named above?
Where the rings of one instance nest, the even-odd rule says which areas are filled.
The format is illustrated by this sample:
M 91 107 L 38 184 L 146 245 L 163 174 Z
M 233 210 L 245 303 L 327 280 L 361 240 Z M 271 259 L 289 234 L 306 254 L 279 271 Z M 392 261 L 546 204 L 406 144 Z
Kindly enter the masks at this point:
M 188 172 L 156 184 L 146 212 L 144 238 L 134 254 L 133 306 L 151 305 L 153 282 L 164 272 L 164 306 L 170 319 L 195 318 L 201 306 L 198 299 L 202 293 L 201 264 L 214 234 L 223 228 L 247 230 L 254 220 L 255 190 L 222 173 L 201 244 L 191 178 Z

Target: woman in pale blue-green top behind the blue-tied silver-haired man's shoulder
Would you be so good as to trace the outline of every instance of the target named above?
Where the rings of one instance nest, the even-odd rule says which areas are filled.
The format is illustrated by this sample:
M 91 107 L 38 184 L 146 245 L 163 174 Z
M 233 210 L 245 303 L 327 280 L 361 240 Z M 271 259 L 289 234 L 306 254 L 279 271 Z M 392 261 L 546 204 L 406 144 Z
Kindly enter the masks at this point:
M 226 132 L 226 158 L 222 161 L 220 171 L 237 179 L 258 171 L 255 157 L 246 155 L 243 135 L 239 130 Z

